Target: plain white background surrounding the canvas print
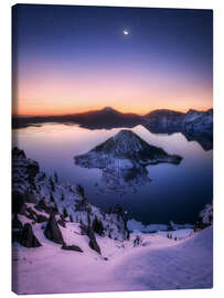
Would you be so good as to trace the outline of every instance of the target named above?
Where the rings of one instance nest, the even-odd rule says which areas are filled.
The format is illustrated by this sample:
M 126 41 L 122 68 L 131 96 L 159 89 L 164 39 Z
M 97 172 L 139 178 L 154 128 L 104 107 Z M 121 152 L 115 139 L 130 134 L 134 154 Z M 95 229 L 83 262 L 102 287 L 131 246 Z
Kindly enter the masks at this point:
M 107 292 L 107 294 L 68 294 L 66 297 L 83 298 L 134 298 L 138 297 L 224 297 L 224 8 L 222 0 L 82 0 L 82 1 L 8 1 L 0 2 L 0 120 L 1 120 L 1 146 L 0 146 L 0 227 L 1 227 L 1 297 L 12 297 L 11 288 L 11 248 L 10 248 L 10 155 L 11 155 L 11 6 L 21 3 L 46 3 L 46 4 L 95 4 L 95 6 L 128 6 L 128 7 L 157 7 L 157 8 L 195 8 L 214 9 L 214 109 L 215 109 L 215 153 L 214 153 L 214 203 L 215 203 L 215 254 L 214 254 L 214 288 L 210 290 L 175 290 L 175 291 L 138 291 L 138 292 Z M 61 297 L 62 295 L 41 295 L 41 297 Z

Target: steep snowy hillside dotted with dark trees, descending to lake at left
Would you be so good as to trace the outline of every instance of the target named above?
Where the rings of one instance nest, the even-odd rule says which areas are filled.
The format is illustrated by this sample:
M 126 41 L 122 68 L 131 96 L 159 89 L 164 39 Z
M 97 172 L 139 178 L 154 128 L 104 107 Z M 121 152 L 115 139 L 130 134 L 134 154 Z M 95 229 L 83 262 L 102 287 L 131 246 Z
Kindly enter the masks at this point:
M 125 214 L 120 206 L 110 214 L 103 212 L 88 203 L 81 185 L 62 183 L 56 173 L 54 177 L 47 177 L 40 171 L 38 162 L 28 159 L 24 151 L 14 148 L 12 150 L 13 213 L 28 216 L 28 203 L 39 205 L 43 201 L 66 222 L 93 225 L 96 219 L 95 222 L 103 224 L 104 235 L 119 240 L 128 237 Z M 38 206 L 39 210 L 40 207 Z M 36 213 L 38 210 L 34 209 L 33 212 Z M 35 214 L 33 216 L 35 217 Z

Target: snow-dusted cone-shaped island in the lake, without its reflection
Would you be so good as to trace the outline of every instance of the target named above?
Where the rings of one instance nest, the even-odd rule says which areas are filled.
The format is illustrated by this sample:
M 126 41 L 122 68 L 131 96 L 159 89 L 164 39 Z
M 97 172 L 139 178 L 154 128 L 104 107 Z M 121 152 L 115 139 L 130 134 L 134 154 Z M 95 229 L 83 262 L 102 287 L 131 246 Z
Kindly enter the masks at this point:
M 76 156 L 75 162 L 84 167 L 88 164 L 89 168 L 107 168 L 109 163 L 116 163 L 116 159 L 129 160 L 131 167 L 158 162 L 179 163 L 181 161 L 180 157 L 169 156 L 162 148 L 149 145 L 134 131 L 122 129 L 89 152 Z

